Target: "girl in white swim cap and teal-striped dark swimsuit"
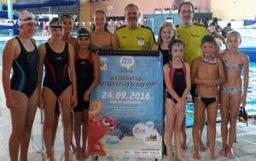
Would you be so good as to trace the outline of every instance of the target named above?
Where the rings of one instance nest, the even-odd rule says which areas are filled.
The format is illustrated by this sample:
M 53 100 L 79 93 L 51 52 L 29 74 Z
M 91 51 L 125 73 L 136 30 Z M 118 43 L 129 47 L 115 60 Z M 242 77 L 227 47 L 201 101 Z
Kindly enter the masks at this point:
M 9 137 L 11 160 L 27 160 L 32 124 L 38 106 L 38 49 L 32 39 L 38 22 L 26 10 L 20 13 L 20 34 L 11 38 L 3 49 L 3 90 L 12 120 Z M 13 75 L 10 79 L 11 68 Z

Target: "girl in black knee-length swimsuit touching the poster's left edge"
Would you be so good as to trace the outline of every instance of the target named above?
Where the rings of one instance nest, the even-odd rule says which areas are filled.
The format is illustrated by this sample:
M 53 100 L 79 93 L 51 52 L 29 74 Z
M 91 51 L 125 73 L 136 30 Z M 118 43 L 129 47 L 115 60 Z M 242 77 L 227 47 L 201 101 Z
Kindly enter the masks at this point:
M 99 57 L 88 49 L 90 44 L 90 32 L 81 28 L 78 34 L 79 50 L 75 56 L 75 68 L 77 73 L 78 106 L 73 108 L 74 136 L 76 140 L 76 159 L 87 157 L 86 141 L 88 133 L 88 110 L 90 93 L 96 88 L 100 80 Z M 82 125 L 82 126 L 81 126 Z M 81 128 L 82 127 L 82 128 Z M 82 130 L 82 133 L 81 133 Z M 80 146 L 81 139 L 83 141 Z

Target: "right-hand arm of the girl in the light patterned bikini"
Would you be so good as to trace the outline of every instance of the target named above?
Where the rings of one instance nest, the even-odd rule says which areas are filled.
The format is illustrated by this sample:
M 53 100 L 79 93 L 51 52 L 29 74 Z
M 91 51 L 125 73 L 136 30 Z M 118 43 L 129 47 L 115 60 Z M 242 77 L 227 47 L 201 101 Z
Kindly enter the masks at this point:
M 247 89 L 249 83 L 249 58 L 243 54 L 243 93 L 241 95 L 241 105 L 246 106 L 247 104 Z

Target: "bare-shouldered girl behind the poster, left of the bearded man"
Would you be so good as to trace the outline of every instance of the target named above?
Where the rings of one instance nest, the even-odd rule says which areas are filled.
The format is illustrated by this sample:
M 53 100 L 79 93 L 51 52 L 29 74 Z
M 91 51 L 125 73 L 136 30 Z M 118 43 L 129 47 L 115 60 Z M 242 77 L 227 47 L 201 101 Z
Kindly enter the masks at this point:
M 98 50 L 119 49 L 119 43 L 115 33 L 108 32 L 108 22 L 105 12 L 103 10 L 96 10 L 92 16 L 92 20 L 93 28 L 90 35 L 90 51 L 96 53 Z

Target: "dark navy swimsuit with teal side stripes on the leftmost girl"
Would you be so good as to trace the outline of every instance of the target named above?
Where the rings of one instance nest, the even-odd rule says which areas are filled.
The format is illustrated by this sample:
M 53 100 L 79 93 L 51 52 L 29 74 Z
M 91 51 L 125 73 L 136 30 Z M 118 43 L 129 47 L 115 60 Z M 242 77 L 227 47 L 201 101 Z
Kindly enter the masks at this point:
M 33 43 L 35 49 L 26 51 L 19 37 L 16 37 L 20 44 L 20 55 L 13 62 L 13 75 L 10 88 L 24 93 L 30 97 L 37 88 L 38 83 L 38 48 Z

